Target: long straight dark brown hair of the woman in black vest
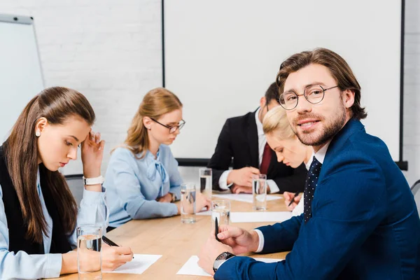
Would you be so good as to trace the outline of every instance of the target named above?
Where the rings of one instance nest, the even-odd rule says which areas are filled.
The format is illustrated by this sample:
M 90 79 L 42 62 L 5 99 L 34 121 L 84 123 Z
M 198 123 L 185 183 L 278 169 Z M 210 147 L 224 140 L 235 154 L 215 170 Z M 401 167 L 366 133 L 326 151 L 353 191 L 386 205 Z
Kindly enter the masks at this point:
M 3 144 L 6 164 L 27 225 L 27 239 L 42 244 L 47 235 L 47 223 L 36 189 L 38 146 L 35 127 L 39 118 L 46 118 L 52 125 L 64 123 L 66 118 L 78 116 L 89 125 L 94 123 L 94 111 L 87 99 L 65 87 L 49 87 L 36 95 L 18 117 L 10 136 Z M 77 204 L 64 176 L 39 165 L 45 174 L 50 192 L 55 199 L 62 225 L 67 233 L 76 228 Z

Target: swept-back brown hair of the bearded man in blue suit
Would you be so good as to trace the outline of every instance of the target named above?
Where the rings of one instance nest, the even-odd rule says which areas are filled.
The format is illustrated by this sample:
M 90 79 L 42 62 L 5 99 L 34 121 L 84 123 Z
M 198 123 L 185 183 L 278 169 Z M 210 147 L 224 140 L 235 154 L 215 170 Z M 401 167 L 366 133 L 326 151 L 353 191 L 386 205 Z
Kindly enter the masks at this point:
M 352 117 L 358 120 L 366 118 L 365 108 L 360 106 L 360 85 L 347 62 L 337 53 L 326 48 L 316 48 L 311 51 L 296 53 L 286 59 L 277 73 L 276 83 L 279 92 L 283 93 L 284 83 L 290 73 L 296 72 L 309 64 L 320 64 L 330 70 L 332 77 L 337 81 L 340 90 L 354 92 L 354 104 L 351 106 Z

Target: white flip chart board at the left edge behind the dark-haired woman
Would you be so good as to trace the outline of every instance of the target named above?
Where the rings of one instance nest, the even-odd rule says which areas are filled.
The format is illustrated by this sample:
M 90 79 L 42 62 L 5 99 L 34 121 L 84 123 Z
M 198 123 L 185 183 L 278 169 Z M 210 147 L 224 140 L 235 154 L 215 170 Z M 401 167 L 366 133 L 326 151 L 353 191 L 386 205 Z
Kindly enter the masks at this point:
M 0 15 L 0 145 L 26 104 L 43 90 L 32 18 Z

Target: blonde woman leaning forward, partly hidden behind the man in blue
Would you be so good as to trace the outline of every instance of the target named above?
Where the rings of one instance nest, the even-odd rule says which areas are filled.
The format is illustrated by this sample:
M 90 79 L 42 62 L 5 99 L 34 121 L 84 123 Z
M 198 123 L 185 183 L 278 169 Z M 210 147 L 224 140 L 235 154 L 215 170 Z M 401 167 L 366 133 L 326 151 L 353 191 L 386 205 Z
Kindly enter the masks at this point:
M 283 162 L 285 165 L 293 168 L 302 165 L 302 162 L 304 162 L 304 165 L 309 169 L 312 147 L 305 146 L 297 139 L 288 123 L 286 110 L 281 106 L 277 106 L 268 111 L 262 121 L 262 130 L 264 130 L 268 145 L 276 152 L 279 162 Z M 289 204 L 294 194 L 284 192 L 283 195 L 286 206 L 290 211 L 293 210 L 294 216 L 299 216 L 303 213 L 303 200 L 301 200 L 300 195 L 295 197 L 295 202 L 290 206 Z

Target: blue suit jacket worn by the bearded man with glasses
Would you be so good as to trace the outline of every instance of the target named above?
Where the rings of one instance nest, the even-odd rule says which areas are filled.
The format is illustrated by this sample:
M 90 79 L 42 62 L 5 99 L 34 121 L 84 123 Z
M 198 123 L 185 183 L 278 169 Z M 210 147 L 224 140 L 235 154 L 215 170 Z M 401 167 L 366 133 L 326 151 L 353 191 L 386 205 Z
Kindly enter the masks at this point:
M 269 263 L 235 257 L 215 279 L 420 279 L 420 221 L 407 181 L 381 139 L 351 119 L 332 139 L 303 216 L 259 228 Z

